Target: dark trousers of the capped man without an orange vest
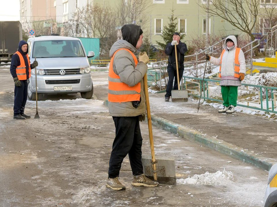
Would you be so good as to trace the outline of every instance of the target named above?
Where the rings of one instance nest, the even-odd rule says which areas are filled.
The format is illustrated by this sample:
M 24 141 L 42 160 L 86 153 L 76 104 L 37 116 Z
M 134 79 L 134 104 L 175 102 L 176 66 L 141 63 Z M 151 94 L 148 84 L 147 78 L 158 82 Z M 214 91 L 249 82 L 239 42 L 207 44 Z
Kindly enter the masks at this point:
M 167 83 L 167 86 L 166 86 L 166 94 L 164 95 L 165 97 L 171 96 L 171 91 L 172 91 L 173 79 L 174 78 L 175 78 L 175 80 L 174 80 L 173 90 L 178 90 L 178 84 L 180 84 L 181 78 L 182 78 L 183 73 L 184 73 L 184 68 L 181 68 L 181 69 L 178 68 L 178 71 L 179 71 L 179 83 L 177 81 L 177 70 L 175 70 L 171 66 L 171 64 L 169 64 L 167 66 L 168 83 Z

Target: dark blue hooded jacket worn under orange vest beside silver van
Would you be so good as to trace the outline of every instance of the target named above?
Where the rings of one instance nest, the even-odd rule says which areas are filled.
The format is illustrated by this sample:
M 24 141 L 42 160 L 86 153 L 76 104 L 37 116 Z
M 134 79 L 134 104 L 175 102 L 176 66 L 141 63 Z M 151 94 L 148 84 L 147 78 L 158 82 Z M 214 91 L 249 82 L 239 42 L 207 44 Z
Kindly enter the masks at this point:
M 21 49 L 22 45 L 25 45 L 25 44 L 27 44 L 27 42 L 25 42 L 24 40 L 21 40 L 18 43 L 18 51 L 23 56 L 23 59 L 24 59 L 24 62 L 25 62 L 25 66 L 26 66 L 27 79 L 28 79 L 28 77 L 29 77 L 29 70 L 28 70 L 29 64 L 28 64 L 28 60 L 27 60 L 26 55 L 28 55 L 29 45 L 28 45 L 28 48 L 27 48 L 27 52 L 24 53 L 22 51 L 22 49 Z M 19 66 L 19 65 L 20 65 L 19 56 L 17 54 L 13 54 L 12 55 L 11 67 L 10 67 L 10 72 L 11 72 L 13 78 L 17 77 L 17 75 L 16 75 L 16 67 Z M 33 69 L 32 66 L 31 66 L 31 69 Z

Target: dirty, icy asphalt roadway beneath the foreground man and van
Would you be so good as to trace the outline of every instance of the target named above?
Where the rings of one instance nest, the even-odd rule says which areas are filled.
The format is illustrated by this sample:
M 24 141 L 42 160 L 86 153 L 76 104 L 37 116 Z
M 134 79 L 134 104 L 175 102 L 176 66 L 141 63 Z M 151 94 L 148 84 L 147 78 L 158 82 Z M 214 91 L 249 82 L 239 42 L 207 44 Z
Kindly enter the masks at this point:
M 218 186 L 133 187 L 126 157 L 120 171 L 126 190 L 107 189 L 108 162 L 115 136 L 112 117 L 103 104 L 107 73 L 92 73 L 91 100 L 81 99 L 79 94 L 45 96 L 46 100 L 38 102 L 39 120 L 33 119 L 35 101 L 26 104 L 25 113 L 31 119 L 12 119 L 13 80 L 9 70 L 0 69 L 0 76 L 1 207 L 263 206 L 268 172 L 157 127 L 153 127 L 156 155 L 175 158 L 178 178 L 225 168 L 233 173 L 234 180 Z M 141 123 L 141 132 L 143 154 L 150 154 L 146 122 Z

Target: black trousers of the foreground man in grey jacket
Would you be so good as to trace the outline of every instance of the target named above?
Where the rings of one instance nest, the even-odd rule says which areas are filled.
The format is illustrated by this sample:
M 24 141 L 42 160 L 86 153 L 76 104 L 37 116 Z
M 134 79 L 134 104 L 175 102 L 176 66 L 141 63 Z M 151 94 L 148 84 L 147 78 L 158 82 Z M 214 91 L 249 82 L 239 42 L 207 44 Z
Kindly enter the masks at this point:
M 119 117 L 113 116 L 115 122 L 115 140 L 111 152 L 109 164 L 109 178 L 119 176 L 121 163 L 126 155 L 129 155 L 133 175 L 141 175 L 143 166 L 141 162 L 141 129 L 139 128 L 139 116 Z

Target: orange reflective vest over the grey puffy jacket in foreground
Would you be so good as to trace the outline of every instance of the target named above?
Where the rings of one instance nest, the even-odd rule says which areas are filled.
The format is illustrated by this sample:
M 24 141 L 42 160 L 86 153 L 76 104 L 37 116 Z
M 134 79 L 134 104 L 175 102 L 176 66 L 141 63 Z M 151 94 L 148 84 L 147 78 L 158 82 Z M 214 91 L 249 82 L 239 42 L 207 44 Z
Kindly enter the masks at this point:
M 115 51 L 115 53 L 119 50 L 128 51 L 134 58 L 136 66 L 138 60 L 130 50 L 121 48 Z M 135 86 L 130 87 L 126 83 L 121 82 L 119 76 L 113 72 L 113 59 L 115 57 L 115 53 L 113 54 L 109 67 L 108 101 L 118 103 L 139 101 L 141 96 L 141 83 L 137 83 Z

